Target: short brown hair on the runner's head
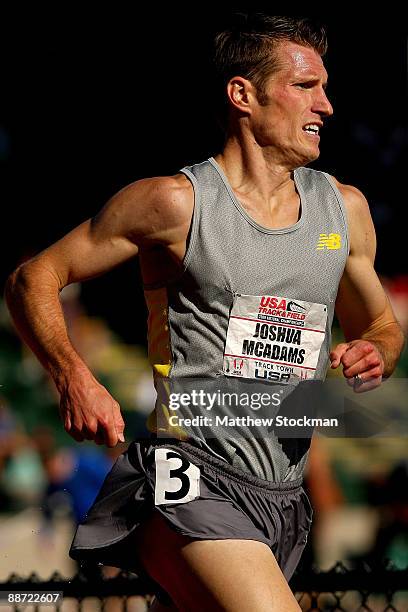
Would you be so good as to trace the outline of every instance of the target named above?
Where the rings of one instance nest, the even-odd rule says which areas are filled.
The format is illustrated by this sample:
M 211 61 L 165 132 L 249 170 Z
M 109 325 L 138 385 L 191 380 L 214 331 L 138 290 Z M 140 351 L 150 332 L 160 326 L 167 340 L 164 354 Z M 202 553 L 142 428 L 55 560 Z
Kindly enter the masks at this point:
M 233 15 L 231 24 L 215 37 L 214 64 L 219 92 L 225 91 L 233 76 L 240 75 L 251 81 L 259 102 L 264 103 L 266 79 L 279 68 L 274 48 L 284 40 L 312 47 L 321 56 L 327 51 L 325 26 L 308 18 L 263 13 Z

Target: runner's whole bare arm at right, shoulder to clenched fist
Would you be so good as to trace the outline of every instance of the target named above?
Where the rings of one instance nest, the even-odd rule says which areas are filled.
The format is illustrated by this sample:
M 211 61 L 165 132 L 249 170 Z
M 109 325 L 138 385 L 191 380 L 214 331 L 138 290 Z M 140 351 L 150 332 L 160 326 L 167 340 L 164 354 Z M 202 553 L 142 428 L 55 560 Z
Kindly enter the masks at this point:
M 347 210 L 350 254 L 336 300 L 346 342 L 333 349 L 330 360 L 332 368 L 343 365 L 344 376 L 361 393 L 392 374 L 404 335 L 374 270 L 376 236 L 367 200 L 355 187 L 336 184 Z

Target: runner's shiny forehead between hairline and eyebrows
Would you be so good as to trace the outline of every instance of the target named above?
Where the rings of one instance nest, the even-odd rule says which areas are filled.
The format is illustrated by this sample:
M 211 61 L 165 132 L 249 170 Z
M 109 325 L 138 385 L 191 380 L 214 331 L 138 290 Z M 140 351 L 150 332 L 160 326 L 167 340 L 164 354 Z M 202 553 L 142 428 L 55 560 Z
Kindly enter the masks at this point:
M 320 55 L 311 47 L 305 47 L 291 41 L 282 41 L 276 47 L 280 69 L 293 76 L 314 73 L 327 79 L 327 71 Z

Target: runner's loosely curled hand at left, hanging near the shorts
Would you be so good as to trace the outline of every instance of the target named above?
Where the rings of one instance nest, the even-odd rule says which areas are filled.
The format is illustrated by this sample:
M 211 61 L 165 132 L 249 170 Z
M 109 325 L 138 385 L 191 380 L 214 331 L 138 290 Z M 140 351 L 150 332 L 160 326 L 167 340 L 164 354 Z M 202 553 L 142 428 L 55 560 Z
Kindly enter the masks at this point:
M 59 381 L 57 388 L 61 419 L 74 440 L 94 440 L 111 447 L 125 441 L 118 402 L 89 371 L 77 371 L 68 380 Z

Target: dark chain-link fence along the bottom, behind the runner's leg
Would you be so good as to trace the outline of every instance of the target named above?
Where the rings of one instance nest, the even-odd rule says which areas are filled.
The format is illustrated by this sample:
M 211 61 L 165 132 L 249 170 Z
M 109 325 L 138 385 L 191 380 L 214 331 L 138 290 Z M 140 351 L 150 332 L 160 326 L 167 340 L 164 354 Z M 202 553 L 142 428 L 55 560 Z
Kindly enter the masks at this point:
M 380 565 L 365 562 L 345 565 L 339 562 L 329 571 L 319 571 L 316 568 L 305 570 L 303 567 L 302 572 L 292 578 L 290 586 L 305 612 L 408 611 L 408 568 L 398 569 L 391 562 Z M 98 598 L 101 601 L 100 608 L 103 609 L 104 600 L 116 596 L 122 598 L 123 610 L 126 611 L 129 597 L 139 595 L 150 599 L 151 585 L 132 573 L 121 572 L 114 578 L 105 578 L 101 568 L 84 566 L 71 579 L 63 578 L 57 572 L 48 580 L 40 579 L 35 573 L 27 578 L 11 574 L 5 582 L 0 582 L 0 592 L 3 593 L 1 603 L 6 603 L 5 593 L 16 591 L 62 591 L 64 599 L 78 601 L 78 609 L 81 609 L 83 600 L 88 597 Z M 9 609 L 19 610 L 23 607 L 16 603 L 10 605 Z M 54 606 L 54 609 L 61 609 L 60 604 Z M 47 610 L 50 608 L 47 607 Z

